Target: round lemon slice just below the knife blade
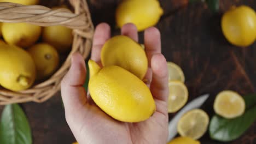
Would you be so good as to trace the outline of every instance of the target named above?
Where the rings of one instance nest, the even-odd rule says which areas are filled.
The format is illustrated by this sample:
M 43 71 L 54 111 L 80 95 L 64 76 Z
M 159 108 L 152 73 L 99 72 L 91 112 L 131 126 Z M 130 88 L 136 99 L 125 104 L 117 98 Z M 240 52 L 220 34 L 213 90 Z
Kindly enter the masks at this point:
M 205 111 L 200 109 L 191 110 L 179 119 L 178 133 L 181 136 L 197 140 L 205 134 L 208 124 L 209 117 Z

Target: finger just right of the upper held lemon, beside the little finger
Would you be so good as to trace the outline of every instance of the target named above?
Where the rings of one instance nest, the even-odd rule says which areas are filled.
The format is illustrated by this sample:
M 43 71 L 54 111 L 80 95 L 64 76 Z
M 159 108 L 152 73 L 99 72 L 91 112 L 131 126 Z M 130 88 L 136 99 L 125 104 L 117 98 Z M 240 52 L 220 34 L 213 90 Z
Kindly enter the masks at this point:
M 152 56 L 156 53 L 161 53 L 161 36 L 157 28 L 150 27 L 146 29 L 144 32 L 144 45 L 150 67 Z

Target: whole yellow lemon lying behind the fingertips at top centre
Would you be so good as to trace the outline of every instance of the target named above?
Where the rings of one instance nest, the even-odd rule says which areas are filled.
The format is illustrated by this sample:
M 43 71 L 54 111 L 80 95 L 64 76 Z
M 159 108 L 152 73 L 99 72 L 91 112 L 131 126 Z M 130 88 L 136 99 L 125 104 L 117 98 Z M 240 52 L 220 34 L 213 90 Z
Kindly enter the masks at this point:
M 125 0 L 118 5 L 115 16 L 119 27 L 134 23 L 138 31 L 143 31 L 156 25 L 163 13 L 157 0 Z

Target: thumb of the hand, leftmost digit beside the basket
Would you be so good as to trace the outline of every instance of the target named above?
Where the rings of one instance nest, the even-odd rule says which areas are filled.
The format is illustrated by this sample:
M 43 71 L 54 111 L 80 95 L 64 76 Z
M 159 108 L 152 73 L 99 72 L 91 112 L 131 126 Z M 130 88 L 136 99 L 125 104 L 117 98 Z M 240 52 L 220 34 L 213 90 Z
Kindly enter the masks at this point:
M 77 111 L 86 103 L 86 92 L 83 87 L 86 78 L 86 67 L 79 53 L 72 55 L 72 64 L 61 81 L 61 96 L 66 113 Z

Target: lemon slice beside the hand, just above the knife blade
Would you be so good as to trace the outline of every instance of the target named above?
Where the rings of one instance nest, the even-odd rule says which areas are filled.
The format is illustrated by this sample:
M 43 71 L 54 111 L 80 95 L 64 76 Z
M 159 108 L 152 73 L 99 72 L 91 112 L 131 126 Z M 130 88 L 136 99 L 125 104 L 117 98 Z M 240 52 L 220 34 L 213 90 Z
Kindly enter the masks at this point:
M 168 112 L 176 112 L 188 101 L 188 88 L 180 81 L 169 81 Z

